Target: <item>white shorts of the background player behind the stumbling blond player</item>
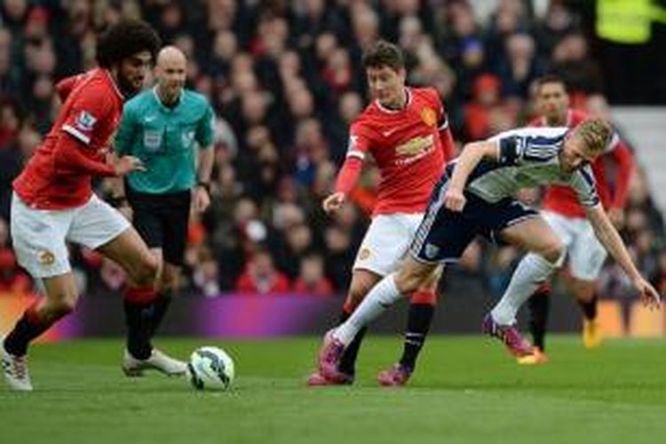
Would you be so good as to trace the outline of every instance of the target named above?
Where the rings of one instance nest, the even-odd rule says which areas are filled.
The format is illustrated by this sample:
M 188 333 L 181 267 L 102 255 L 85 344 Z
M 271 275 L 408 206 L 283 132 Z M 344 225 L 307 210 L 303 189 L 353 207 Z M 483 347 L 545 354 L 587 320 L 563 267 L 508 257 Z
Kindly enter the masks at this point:
M 607 251 L 594 235 L 586 218 L 567 218 L 542 211 L 543 218 L 567 248 L 569 273 L 581 281 L 596 281 L 607 258 Z

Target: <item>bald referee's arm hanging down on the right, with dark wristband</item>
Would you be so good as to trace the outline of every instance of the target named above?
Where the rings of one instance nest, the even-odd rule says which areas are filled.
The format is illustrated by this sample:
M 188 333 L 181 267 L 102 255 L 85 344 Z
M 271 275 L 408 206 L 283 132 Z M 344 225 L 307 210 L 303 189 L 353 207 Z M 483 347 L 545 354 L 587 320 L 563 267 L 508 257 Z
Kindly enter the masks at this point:
M 210 106 L 199 121 L 196 129 L 196 140 L 199 143 L 199 162 L 197 169 L 197 186 L 194 191 L 194 209 L 204 211 L 210 205 L 210 175 L 215 162 L 213 150 L 213 128 L 215 115 Z

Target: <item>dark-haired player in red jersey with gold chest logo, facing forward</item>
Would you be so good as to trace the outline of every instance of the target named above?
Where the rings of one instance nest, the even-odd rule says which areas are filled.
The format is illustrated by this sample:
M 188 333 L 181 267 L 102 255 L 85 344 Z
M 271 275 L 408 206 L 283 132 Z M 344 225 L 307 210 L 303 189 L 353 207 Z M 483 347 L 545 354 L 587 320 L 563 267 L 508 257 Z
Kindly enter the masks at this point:
M 349 147 L 335 192 L 323 202 L 330 213 L 339 209 L 352 191 L 367 155 L 379 168 L 377 205 L 353 265 L 353 275 L 340 322 L 345 321 L 369 290 L 399 265 L 409 247 L 440 178 L 455 153 L 447 115 L 432 88 L 408 88 L 400 48 L 378 42 L 363 55 L 369 88 L 375 100 L 350 128 Z M 411 296 L 404 351 L 400 361 L 378 376 L 382 385 L 404 385 L 416 365 L 432 321 L 437 277 Z M 340 362 L 339 375 L 326 379 L 314 373 L 310 385 L 351 384 L 362 329 Z

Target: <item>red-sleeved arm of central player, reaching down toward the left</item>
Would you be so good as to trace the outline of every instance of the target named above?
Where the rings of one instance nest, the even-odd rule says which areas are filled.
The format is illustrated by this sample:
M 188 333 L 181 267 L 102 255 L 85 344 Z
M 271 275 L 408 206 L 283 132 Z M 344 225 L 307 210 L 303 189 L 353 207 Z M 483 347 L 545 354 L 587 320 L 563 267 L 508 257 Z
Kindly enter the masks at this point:
M 337 173 L 335 190 L 321 203 L 324 211 L 327 213 L 335 211 L 345 203 L 347 195 L 353 190 L 361 177 L 363 162 L 368 150 L 369 139 L 353 127 L 350 131 L 345 163 Z

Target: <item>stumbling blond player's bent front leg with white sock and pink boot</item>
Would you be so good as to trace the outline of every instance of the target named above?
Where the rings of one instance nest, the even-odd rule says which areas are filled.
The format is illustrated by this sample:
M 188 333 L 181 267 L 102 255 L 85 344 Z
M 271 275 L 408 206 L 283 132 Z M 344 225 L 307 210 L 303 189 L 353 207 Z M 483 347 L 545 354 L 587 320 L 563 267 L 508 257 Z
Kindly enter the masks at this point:
M 551 226 L 536 214 L 503 228 L 501 235 L 507 242 L 527 250 L 502 299 L 483 321 L 483 331 L 503 341 L 509 351 L 517 357 L 532 354 L 532 346 L 520 336 L 515 327 L 515 316 L 544 281 L 551 277 L 564 258 L 564 246 Z

